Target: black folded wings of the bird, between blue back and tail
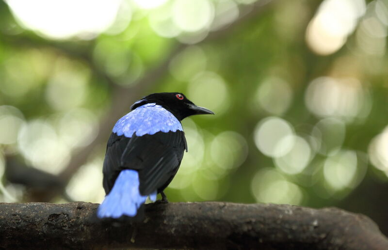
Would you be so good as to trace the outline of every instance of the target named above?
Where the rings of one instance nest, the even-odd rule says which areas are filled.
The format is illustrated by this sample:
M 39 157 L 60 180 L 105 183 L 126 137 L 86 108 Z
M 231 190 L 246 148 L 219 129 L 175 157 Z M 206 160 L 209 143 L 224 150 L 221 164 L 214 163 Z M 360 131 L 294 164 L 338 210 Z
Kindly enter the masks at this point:
M 157 132 L 131 138 L 112 133 L 104 160 L 104 188 L 109 193 L 123 169 L 139 171 L 143 195 L 162 190 L 178 171 L 185 144 L 183 131 Z

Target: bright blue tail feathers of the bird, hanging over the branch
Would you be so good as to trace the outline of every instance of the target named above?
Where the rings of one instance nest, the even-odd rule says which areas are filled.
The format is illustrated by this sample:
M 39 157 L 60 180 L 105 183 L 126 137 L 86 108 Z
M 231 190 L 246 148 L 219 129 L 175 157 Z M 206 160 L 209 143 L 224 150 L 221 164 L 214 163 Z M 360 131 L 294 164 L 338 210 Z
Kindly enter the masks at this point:
M 135 170 L 123 170 L 114 182 L 111 192 L 97 209 L 98 218 L 120 218 L 123 215 L 135 217 L 148 195 L 139 191 L 139 173 Z M 150 194 L 156 200 L 156 192 Z

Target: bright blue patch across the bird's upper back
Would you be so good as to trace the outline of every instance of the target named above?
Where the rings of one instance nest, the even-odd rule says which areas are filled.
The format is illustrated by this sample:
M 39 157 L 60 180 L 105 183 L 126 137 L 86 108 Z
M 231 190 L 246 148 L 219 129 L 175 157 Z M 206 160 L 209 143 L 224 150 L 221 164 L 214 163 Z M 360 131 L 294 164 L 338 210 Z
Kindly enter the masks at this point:
M 120 118 L 112 132 L 130 138 L 135 132 L 136 136 L 143 136 L 177 130 L 183 131 L 182 125 L 170 111 L 155 103 L 148 103 Z

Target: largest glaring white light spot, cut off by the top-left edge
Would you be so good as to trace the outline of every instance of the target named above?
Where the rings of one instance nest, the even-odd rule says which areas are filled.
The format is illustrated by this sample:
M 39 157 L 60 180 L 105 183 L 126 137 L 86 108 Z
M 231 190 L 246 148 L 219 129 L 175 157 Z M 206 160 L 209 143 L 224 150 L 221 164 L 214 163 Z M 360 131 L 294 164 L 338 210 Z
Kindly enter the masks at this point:
M 7 0 L 24 27 L 54 39 L 90 39 L 114 22 L 121 0 Z M 49 20 L 49 21 L 48 21 Z

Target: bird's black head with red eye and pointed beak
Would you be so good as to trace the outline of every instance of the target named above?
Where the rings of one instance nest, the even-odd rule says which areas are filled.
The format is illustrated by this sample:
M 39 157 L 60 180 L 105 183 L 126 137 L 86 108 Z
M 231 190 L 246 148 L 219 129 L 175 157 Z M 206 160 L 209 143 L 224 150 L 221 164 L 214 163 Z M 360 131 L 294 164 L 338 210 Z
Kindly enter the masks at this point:
M 155 93 L 149 94 L 135 102 L 130 109 L 136 109 L 147 103 L 156 103 L 164 109 L 170 111 L 179 121 L 184 118 L 197 114 L 214 114 L 209 109 L 196 106 L 192 101 L 186 98 L 182 93 Z

